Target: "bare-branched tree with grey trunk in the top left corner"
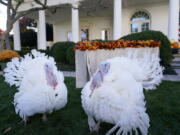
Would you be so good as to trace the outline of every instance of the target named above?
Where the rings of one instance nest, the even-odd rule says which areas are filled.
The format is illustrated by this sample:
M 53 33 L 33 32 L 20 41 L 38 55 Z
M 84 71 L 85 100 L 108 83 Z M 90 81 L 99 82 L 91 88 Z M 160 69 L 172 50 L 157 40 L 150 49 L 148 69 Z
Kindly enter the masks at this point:
M 0 36 L 0 50 L 11 49 L 9 43 L 9 33 L 13 28 L 13 24 L 23 16 L 26 16 L 32 12 L 44 10 L 48 8 L 47 0 L 33 0 L 39 7 L 31 8 L 26 11 L 18 12 L 20 5 L 24 3 L 24 0 L 0 0 L 0 4 L 7 7 L 7 21 L 6 31 Z

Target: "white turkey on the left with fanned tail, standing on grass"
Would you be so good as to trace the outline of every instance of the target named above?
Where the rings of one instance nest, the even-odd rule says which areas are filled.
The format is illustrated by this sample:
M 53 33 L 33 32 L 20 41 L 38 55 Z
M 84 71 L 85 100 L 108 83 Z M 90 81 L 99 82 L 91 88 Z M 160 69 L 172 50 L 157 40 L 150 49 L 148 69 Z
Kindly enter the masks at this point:
M 4 70 L 5 81 L 18 87 L 14 95 L 16 114 L 26 122 L 28 117 L 63 108 L 67 103 L 67 88 L 62 72 L 52 57 L 32 50 L 24 58 L 14 58 Z

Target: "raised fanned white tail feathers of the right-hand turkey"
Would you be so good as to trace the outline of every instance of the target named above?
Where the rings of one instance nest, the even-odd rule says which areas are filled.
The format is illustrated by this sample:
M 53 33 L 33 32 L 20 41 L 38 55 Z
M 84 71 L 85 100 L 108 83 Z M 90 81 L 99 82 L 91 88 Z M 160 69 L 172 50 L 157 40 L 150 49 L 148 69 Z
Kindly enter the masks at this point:
M 135 61 L 143 70 L 143 88 L 152 90 L 161 83 L 164 68 L 160 65 L 160 58 L 156 53 L 152 53 L 150 50 L 142 53 L 144 53 L 143 57 L 138 57 L 136 51 L 130 52 L 127 57 Z

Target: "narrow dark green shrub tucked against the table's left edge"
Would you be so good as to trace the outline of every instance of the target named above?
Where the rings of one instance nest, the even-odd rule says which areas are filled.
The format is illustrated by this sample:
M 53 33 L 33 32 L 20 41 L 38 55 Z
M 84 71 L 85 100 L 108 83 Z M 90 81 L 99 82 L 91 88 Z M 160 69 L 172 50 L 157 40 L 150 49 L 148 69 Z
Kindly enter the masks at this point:
M 70 46 L 66 51 L 66 59 L 70 65 L 75 65 L 74 46 Z

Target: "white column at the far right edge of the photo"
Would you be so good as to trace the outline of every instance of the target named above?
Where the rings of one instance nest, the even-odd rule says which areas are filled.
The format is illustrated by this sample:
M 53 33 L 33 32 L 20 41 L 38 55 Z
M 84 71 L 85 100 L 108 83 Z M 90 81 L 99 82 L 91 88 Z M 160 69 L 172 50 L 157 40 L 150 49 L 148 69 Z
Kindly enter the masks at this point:
M 178 41 L 179 33 L 179 0 L 169 0 L 168 37 Z

